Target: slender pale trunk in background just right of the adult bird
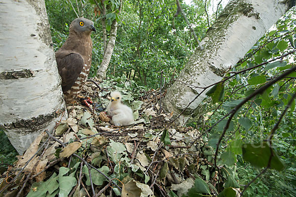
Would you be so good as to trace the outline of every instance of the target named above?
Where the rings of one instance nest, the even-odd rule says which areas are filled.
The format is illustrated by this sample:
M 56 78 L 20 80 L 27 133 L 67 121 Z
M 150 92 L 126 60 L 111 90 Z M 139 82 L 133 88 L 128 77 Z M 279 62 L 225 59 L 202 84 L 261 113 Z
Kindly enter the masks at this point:
M 121 8 L 122 8 L 122 0 L 120 0 L 120 6 L 118 8 L 118 10 L 119 10 L 118 14 L 120 14 Z M 105 10 L 105 13 L 106 13 L 106 10 Z M 104 22 L 105 22 L 105 24 L 104 24 Z M 102 26 L 106 27 L 106 21 L 102 20 Z M 111 60 L 111 57 L 112 57 L 112 53 L 113 53 L 113 50 L 114 50 L 114 46 L 115 46 L 117 28 L 118 28 L 118 22 L 114 19 L 114 21 L 112 22 L 112 25 L 111 25 L 110 37 L 109 37 L 107 47 L 105 47 L 105 45 L 104 45 L 103 60 L 102 60 L 101 66 L 97 70 L 97 78 L 98 79 L 105 79 L 106 78 L 107 69 L 108 69 L 108 66 L 109 66 L 109 63 L 110 63 L 110 60 Z M 105 30 L 106 30 L 106 28 L 105 28 Z M 105 33 L 106 32 L 103 32 L 103 35 Z M 104 37 L 104 39 L 107 39 L 107 38 Z M 105 41 L 104 41 L 104 43 L 105 43 Z

